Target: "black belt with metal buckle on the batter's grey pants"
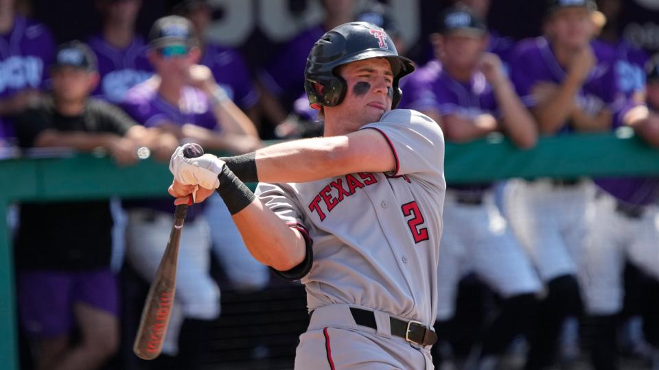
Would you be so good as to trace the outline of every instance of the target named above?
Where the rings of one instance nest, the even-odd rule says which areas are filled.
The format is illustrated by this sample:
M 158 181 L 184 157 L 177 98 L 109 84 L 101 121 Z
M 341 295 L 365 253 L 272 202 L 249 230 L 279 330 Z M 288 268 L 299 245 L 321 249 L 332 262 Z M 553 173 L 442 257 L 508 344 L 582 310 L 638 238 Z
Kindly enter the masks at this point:
M 378 330 L 373 311 L 351 307 L 350 313 L 357 325 L 368 326 L 369 328 Z M 309 312 L 309 317 L 312 314 L 314 314 L 314 311 Z M 389 324 L 391 325 L 392 335 L 400 336 L 408 342 L 416 343 L 417 345 L 434 345 L 437 342 L 435 329 L 419 321 L 405 321 L 396 319 L 395 317 L 389 317 Z

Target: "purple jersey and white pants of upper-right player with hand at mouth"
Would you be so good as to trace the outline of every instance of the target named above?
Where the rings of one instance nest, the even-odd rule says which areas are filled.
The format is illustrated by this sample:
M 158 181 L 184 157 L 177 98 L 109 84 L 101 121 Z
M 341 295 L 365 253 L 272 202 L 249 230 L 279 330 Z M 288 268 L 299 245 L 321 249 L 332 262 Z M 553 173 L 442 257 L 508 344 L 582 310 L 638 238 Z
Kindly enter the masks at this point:
M 627 109 L 627 99 L 618 89 L 616 51 L 591 43 L 597 64 L 577 93 L 577 104 L 589 114 L 606 108 L 618 117 Z M 537 105 L 532 90 L 536 84 L 561 84 L 566 71 L 556 60 L 544 37 L 522 40 L 510 60 L 511 79 L 528 107 Z M 558 134 L 573 132 L 569 121 Z M 527 249 L 543 281 L 562 275 L 577 275 L 586 236 L 586 209 L 594 197 L 590 180 L 533 182 L 511 181 L 505 195 L 506 214 L 514 232 Z

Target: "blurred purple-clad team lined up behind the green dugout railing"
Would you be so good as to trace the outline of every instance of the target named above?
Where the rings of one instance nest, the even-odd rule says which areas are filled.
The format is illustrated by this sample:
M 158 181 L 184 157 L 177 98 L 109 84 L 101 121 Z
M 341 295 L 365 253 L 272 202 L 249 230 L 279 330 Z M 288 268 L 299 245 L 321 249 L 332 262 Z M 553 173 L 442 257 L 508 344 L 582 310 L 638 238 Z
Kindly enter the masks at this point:
M 321 3 L 323 21 L 253 71 L 236 49 L 207 38 L 213 8 L 204 0 L 173 6 L 146 39 L 136 32 L 141 0 L 96 0 L 100 32 L 60 45 L 14 0 L 0 0 L 0 148 L 101 149 L 130 165 L 167 161 L 182 143 L 241 154 L 263 139 L 321 136 L 303 70 L 314 42 L 349 21 L 382 27 L 401 55 L 416 50 L 419 70 L 402 80 L 399 108 L 430 116 L 448 142 L 500 132 L 527 150 L 541 135 L 629 127 L 659 147 L 659 54 L 624 37 L 623 1 L 546 1 L 542 35 L 523 40 L 487 27 L 489 0 L 446 1 L 418 45 L 406 45 L 386 1 Z M 621 355 L 659 369 L 659 177 L 450 180 L 438 369 L 569 369 L 583 349 L 596 370 L 623 369 Z M 168 198 L 19 206 L 19 322 L 34 369 L 101 369 L 115 356 L 117 270 L 152 279 L 173 209 Z M 270 280 L 217 195 L 188 211 L 181 245 L 157 369 L 203 366 L 209 323 L 221 311 L 213 256 L 240 291 Z M 478 328 L 466 349 L 461 291 L 489 299 L 467 319 Z

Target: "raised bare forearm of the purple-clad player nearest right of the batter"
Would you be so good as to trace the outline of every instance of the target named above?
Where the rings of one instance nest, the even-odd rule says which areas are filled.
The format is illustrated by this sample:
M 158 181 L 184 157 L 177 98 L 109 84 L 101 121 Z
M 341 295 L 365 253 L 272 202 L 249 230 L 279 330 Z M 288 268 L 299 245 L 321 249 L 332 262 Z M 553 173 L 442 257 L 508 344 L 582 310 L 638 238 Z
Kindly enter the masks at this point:
M 494 94 L 509 138 L 520 148 L 533 147 L 537 142 L 535 119 L 524 107 L 509 80 L 494 86 Z

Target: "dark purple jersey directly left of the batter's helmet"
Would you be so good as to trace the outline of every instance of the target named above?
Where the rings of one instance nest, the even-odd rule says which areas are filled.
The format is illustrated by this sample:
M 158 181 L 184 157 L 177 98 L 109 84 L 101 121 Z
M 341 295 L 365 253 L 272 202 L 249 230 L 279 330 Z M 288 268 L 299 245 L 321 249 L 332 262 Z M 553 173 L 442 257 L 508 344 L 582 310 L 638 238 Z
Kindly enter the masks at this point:
M 260 73 L 264 86 L 287 105 L 304 92 L 304 67 L 314 43 L 325 34 L 318 25 L 302 32 L 286 45 Z

